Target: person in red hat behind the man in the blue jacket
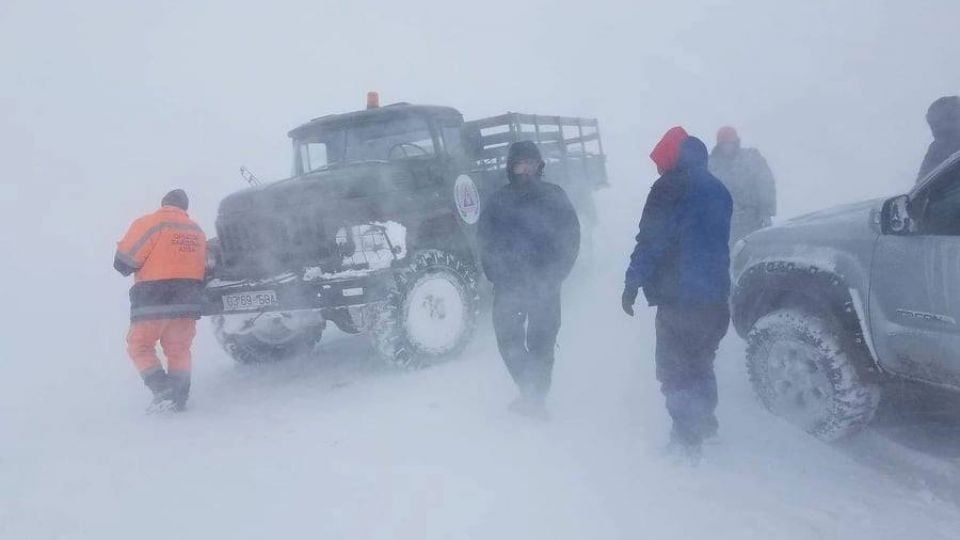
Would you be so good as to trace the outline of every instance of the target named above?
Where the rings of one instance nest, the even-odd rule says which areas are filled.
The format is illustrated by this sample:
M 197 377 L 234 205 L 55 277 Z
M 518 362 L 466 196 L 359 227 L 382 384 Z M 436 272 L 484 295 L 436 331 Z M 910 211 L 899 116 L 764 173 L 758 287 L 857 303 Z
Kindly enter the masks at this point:
M 710 172 L 733 196 L 730 245 L 748 234 L 769 227 L 777 215 L 777 186 L 767 160 L 756 148 L 741 148 L 737 130 L 726 126 L 717 132 L 710 153 Z

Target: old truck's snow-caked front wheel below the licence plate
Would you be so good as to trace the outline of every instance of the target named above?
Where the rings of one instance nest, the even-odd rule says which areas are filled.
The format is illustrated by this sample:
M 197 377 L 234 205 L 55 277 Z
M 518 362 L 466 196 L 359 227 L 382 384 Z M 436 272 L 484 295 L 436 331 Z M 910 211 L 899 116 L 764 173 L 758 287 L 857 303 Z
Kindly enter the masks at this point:
M 227 317 L 213 318 L 214 335 L 223 350 L 240 364 L 268 364 L 302 356 L 313 350 L 323 334 L 323 324 L 291 329 L 283 324 L 282 313 L 258 322 L 252 329 L 236 331 Z M 250 323 L 247 323 L 250 324 Z

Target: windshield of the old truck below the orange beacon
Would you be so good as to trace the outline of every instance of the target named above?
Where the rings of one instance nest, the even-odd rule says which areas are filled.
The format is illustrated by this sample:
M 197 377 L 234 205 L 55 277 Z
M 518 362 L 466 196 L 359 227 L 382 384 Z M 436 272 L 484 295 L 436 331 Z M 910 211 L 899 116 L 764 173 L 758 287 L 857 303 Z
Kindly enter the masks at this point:
M 300 174 L 307 174 L 341 163 L 416 159 L 435 152 L 426 120 L 409 116 L 388 122 L 318 126 L 295 141 L 295 166 Z

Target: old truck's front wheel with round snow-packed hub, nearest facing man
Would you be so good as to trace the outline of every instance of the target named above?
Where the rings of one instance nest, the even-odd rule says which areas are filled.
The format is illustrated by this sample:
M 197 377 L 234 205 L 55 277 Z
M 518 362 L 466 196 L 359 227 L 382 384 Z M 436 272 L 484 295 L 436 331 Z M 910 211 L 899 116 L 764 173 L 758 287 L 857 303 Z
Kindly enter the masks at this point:
M 424 367 L 460 352 L 479 311 L 476 267 L 441 250 L 424 250 L 396 274 L 383 303 L 371 306 L 377 353 L 403 367 Z

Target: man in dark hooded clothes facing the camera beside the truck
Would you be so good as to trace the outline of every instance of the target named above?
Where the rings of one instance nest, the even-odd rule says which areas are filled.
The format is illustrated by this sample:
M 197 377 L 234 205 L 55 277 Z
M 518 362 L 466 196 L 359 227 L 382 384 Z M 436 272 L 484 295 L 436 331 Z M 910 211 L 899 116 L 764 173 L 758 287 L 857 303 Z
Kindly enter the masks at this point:
M 560 289 L 580 249 L 580 223 L 560 186 L 542 179 L 544 162 L 528 141 L 510 146 L 510 183 L 480 215 L 477 237 L 493 283 L 493 326 L 507 370 L 520 388 L 514 412 L 545 414 L 560 331 Z

